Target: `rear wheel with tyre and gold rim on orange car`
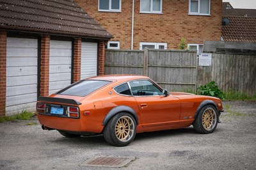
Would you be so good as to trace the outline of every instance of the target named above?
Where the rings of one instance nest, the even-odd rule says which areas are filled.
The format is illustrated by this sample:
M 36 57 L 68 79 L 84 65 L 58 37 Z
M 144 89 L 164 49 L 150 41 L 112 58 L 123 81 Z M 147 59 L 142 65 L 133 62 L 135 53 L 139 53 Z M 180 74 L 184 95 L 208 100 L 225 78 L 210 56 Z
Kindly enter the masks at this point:
M 120 112 L 113 116 L 104 127 L 103 135 L 113 146 L 127 146 L 136 135 L 136 121 L 131 114 Z

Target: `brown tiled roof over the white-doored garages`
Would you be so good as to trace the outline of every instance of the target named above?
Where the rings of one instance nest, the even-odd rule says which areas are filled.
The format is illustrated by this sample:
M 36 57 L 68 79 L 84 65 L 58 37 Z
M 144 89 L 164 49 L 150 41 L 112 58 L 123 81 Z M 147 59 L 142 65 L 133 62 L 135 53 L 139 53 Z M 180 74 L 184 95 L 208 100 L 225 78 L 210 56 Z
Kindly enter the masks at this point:
M 72 0 L 0 0 L 0 27 L 93 38 L 113 37 Z

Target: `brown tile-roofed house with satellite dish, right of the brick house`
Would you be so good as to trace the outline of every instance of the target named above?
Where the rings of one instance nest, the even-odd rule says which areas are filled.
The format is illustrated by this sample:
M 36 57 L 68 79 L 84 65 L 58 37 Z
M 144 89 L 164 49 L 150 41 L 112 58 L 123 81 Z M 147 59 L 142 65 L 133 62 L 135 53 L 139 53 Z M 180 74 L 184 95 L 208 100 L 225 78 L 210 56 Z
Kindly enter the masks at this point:
M 256 42 L 256 10 L 233 8 L 223 3 L 221 40 L 225 42 Z

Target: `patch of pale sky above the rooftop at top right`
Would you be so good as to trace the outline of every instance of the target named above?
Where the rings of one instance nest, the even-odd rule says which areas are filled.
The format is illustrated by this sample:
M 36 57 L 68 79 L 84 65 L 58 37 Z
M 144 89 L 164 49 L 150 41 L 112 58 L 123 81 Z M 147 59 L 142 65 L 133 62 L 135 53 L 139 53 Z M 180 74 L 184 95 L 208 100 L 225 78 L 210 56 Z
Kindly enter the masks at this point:
M 233 8 L 256 9 L 256 0 L 223 0 L 229 2 Z

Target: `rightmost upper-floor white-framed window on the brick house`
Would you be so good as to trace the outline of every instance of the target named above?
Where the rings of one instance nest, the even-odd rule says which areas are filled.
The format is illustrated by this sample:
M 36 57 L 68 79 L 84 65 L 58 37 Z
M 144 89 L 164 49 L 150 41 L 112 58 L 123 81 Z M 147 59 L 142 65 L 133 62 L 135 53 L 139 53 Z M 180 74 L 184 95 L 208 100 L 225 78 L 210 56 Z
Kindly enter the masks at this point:
M 211 0 L 189 0 L 189 14 L 210 15 Z

